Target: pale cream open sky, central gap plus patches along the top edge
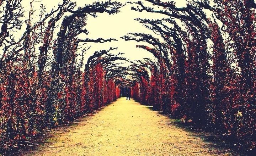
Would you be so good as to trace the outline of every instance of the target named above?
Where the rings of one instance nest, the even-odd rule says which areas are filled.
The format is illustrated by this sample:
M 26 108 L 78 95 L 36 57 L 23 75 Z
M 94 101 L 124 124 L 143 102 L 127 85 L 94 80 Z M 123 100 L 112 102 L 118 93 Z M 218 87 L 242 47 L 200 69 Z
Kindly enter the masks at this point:
M 30 8 L 30 1 L 31 0 L 24 0 L 23 6 L 27 9 Z M 46 6 L 47 11 L 49 12 L 53 7 L 57 8 L 58 3 L 62 0 L 42 0 L 40 2 L 34 2 L 33 7 L 34 9 L 39 10 L 39 5 L 43 4 Z M 77 2 L 77 6 L 84 6 L 85 4 L 91 4 L 95 2 L 95 0 L 73 0 Z M 137 1 L 137 0 L 117 0 L 125 4 L 127 1 Z M 142 0 L 145 2 L 144 0 Z M 145 2 L 146 3 L 146 2 Z M 127 3 L 126 3 L 127 4 Z M 94 18 L 89 15 L 87 20 L 86 29 L 89 30 L 89 35 L 81 36 L 81 38 L 115 38 L 118 41 L 113 41 L 111 43 L 90 43 L 88 44 L 92 46 L 90 50 L 87 51 L 86 57 L 91 56 L 95 51 L 109 49 L 110 46 L 118 47 L 119 52 L 124 52 L 124 57 L 127 57 L 131 60 L 141 60 L 144 57 L 152 57 L 152 55 L 142 49 L 138 49 L 135 46 L 138 44 L 135 41 L 124 41 L 120 37 L 123 37 L 127 33 L 130 32 L 141 32 L 141 33 L 148 33 L 154 34 L 150 30 L 146 29 L 142 24 L 137 21 L 134 21 L 135 18 L 149 18 L 149 19 L 160 19 L 163 18 L 164 15 L 158 13 L 148 13 L 148 12 L 137 12 L 131 10 L 132 4 L 127 4 L 126 6 L 122 7 L 120 12 L 114 15 L 108 15 L 107 13 L 98 13 L 98 17 Z M 135 6 L 133 4 L 133 6 Z M 176 0 L 177 7 L 186 6 L 186 0 Z M 27 12 L 28 14 L 28 12 Z

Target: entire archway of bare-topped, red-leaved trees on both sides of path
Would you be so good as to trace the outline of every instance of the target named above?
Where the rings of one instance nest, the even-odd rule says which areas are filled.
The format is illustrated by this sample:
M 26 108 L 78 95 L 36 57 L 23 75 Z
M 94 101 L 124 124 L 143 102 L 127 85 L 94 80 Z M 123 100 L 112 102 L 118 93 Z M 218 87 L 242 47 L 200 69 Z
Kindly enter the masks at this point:
M 122 37 L 153 56 L 133 61 L 113 47 L 84 58 L 90 49 L 84 45 L 117 39 L 78 37 L 88 35 L 89 16 L 119 13 L 121 2 L 76 6 L 63 0 L 50 12 L 42 5 L 37 18 L 33 3 L 25 17 L 21 0 L 0 0 L 1 146 L 74 121 L 129 92 L 172 117 L 255 148 L 253 0 L 192 0 L 185 7 L 174 1 L 128 2 L 133 11 L 164 15 L 135 19 L 151 34 Z

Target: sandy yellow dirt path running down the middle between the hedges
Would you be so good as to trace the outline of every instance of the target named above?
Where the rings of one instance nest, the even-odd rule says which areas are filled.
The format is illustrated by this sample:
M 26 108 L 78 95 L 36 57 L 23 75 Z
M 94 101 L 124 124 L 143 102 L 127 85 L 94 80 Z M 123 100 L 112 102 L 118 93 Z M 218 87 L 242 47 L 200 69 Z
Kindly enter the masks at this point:
M 53 137 L 24 155 L 233 155 L 198 133 L 175 126 L 174 121 L 148 106 L 121 98 L 80 119 L 77 125 L 53 132 Z

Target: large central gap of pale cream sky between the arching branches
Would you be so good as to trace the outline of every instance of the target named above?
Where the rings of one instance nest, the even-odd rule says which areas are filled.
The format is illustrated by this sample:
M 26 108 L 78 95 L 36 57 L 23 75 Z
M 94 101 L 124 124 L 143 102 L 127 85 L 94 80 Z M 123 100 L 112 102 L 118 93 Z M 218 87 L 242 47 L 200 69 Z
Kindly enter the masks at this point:
M 124 3 L 125 0 L 120 0 Z M 182 6 L 186 4 L 185 0 L 177 0 L 177 5 Z M 183 1 L 183 3 L 182 3 Z M 120 37 L 130 32 L 141 32 L 154 34 L 152 31 L 145 28 L 138 21 L 134 21 L 135 18 L 149 18 L 157 19 L 163 18 L 164 16 L 158 13 L 148 13 L 148 12 L 137 12 L 131 10 L 131 4 L 127 4 L 121 9 L 121 12 L 115 15 L 99 14 L 97 18 L 89 17 L 87 22 L 87 29 L 90 31 L 89 38 L 116 38 L 118 42 L 106 43 L 102 45 L 94 45 L 101 47 L 105 46 L 116 46 L 118 51 L 124 52 L 124 56 L 130 59 L 140 60 L 144 57 L 149 57 L 151 54 L 145 50 L 138 49 L 135 46 L 138 44 L 135 41 L 124 41 Z

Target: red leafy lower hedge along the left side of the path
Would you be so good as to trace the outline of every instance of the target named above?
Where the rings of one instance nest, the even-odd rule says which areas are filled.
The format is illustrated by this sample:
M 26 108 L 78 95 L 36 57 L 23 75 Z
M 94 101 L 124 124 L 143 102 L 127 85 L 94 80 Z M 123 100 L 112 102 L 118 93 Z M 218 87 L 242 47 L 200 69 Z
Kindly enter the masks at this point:
M 50 128 L 46 119 L 49 111 L 52 111 L 49 117 L 52 126 L 59 126 L 120 97 L 120 89 L 112 79 L 105 80 L 100 64 L 93 66 L 88 75 L 60 74 L 55 82 L 48 73 L 41 83 L 36 72 L 29 73 L 26 67 L 15 66 L 6 69 L 9 75 L 0 75 L 0 118 L 3 119 L 0 142 L 12 140 L 10 144 L 13 144 Z M 52 109 L 48 105 L 49 93 L 55 94 Z

